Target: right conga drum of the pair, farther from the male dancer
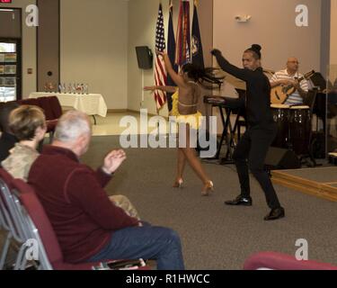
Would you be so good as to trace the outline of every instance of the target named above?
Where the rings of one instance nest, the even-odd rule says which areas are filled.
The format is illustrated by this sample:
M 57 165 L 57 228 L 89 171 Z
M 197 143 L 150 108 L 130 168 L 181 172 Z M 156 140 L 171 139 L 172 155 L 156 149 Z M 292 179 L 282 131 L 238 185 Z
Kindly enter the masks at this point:
M 309 106 L 290 108 L 290 142 L 297 155 L 309 153 L 310 133 L 312 128 Z

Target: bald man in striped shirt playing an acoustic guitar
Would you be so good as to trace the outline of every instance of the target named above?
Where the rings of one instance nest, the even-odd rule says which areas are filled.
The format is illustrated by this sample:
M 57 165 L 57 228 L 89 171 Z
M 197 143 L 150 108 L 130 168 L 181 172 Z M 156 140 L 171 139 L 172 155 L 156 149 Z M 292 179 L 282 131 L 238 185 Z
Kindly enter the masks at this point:
M 298 73 L 299 62 L 297 58 L 288 58 L 287 68 L 276 72 L 270 78 L 271 88 L 288 86 L 286 94 L 279 93 L 279 97 L 273 101 L 273 90 L 271 91 L 271 103 L 284 103 L 286 105 L 301 105 L 306 99 L 307 91 L 309 90 L 308 82 L 305 76 Z M 301 80 L 299 82 L 299 80 Z M 277 92 L 275 92 L 277 94 Z M 283 98 L 284 96 L 284 98 Z M 280 99 L 278 99 L 280 98 Z

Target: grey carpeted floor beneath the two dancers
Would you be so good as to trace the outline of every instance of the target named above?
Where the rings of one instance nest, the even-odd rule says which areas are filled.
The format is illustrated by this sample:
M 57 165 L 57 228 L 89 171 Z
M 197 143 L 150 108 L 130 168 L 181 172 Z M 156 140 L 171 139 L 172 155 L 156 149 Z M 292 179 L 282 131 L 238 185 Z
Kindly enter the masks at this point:
M 120 148 L 117 136 L 93 137 L 91 148 L 82 160 L 97 167 L 111 148 Z M 253 178 L 252 207 L 224 205 L 224 200 L 239 193 L 234 166 L 205 163 L 215 193 L 201 197 L 200 180 L 188 166 L 184 188 L 172 188 L 174 148 L 126 151 L 128 159 L 107 186 L 107 193 L 127 195 L 142 219 L 178 231 L 187 269 L 242 269 L 244 259 L 265 250 L 295 255 L 298 238 L 308 241 L 310 259 L 337 265 L 336 203 L 276 185 L 286 218 L 266 222 L 263 216 L 269 209 Z

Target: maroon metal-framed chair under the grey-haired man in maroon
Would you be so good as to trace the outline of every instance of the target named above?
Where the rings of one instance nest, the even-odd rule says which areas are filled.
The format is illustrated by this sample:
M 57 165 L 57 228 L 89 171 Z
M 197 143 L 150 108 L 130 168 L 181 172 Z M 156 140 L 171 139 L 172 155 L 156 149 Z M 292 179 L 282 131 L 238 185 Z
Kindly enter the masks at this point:
M 31 238 L 36 239 L 38 243 L 41 269 L 92 270 L 93 266 L 100 265 L 100 263 L 66 263 L 58 244 L 58 238 L 31 186 L 20 179 L 14 179 L 13 190 L 17 192 L 18 198 L 24 208 L 22 209 L 22 217 L 26 219 L 29 230 L 31 231 Z M 149 267 L 145 266 L 139 269 L 149 270 Z

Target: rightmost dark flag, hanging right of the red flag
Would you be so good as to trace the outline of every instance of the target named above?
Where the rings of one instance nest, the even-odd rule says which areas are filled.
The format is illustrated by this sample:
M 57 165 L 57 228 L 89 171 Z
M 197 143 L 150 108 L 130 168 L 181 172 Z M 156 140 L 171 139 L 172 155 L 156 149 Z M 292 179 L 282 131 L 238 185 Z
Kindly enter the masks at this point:
M 200 26 L 199 26 L 199 18 L 198 18 L 198 2 L 199 0 L 194 0 L 193 20 L 192 20 L 192 37 L 191 37 L 192 63 L 198 65 L 201 68 L 204 68 L 205 67 L 204 54 L 202 51 Z

